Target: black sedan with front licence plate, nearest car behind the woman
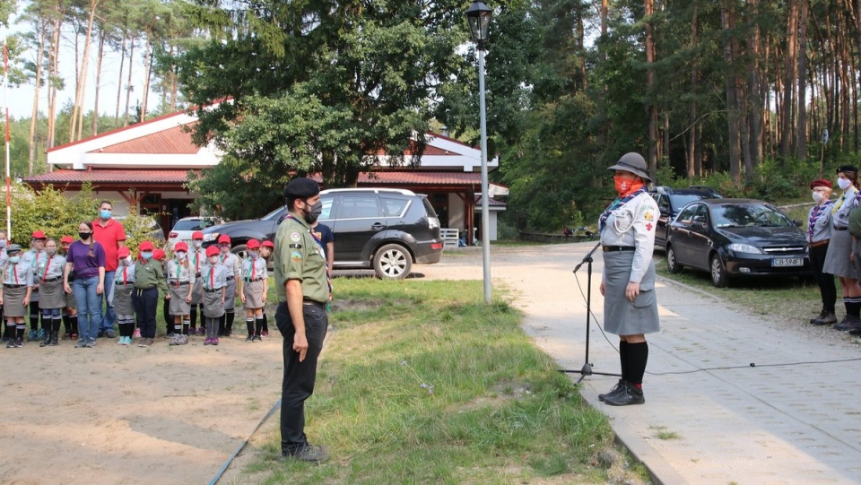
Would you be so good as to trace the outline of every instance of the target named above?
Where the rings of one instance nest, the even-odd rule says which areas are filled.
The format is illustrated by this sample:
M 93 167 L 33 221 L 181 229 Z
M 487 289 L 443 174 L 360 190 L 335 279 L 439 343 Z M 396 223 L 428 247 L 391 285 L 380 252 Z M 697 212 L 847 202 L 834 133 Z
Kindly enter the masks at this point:
M 742 276 L 804 276 L 811 267 L 798 225 L 762 201 L 694 202 L 670 223 L 666 266 L 670 273 L 684 266 L 708 271 L 717 287 Z

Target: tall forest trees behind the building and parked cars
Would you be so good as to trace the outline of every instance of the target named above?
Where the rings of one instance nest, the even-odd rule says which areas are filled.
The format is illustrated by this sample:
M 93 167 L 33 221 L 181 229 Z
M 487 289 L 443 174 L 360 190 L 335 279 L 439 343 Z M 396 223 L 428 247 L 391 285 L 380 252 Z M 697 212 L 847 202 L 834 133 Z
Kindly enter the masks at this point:
M 274 202 L 291 173 L 350 186 L 380 151 L 413 163 L 416 132 L 478 144 L 468 5 L 0 0 L 0 16 L 26 26 L 8 39 L 9 81 L 37 93 L 35 116 L 11 126 L 13 172 L 47 169 L 51 146 L 225 97 L 196 113 L 196 141 L 227 153 L 191 183 L 198 202 L 238 183 L 271 189 L 232 191 L 228 217 Z M 857 163 L 861 0 L 488 5 L 491 178 L 510 187 L 505 217 L 519 230 L 591 220 L 624 152 L 642 153 L 659 183 L 770 199 L 802 193 L 821 164 L 830 177 Z M 58 56 L 63 46 L 74 58 Z M 86 99 L 87 83 L 106 83 L 105 56 L 121 66 L 113 89 Z M 74 78 L 59 75 L 63 63 Z M 128 89 L 136 65 L 142 93 Z M 65 85 L 77 95 L 58 106 Z M 99 108 L 106 96 L 113 112 Z

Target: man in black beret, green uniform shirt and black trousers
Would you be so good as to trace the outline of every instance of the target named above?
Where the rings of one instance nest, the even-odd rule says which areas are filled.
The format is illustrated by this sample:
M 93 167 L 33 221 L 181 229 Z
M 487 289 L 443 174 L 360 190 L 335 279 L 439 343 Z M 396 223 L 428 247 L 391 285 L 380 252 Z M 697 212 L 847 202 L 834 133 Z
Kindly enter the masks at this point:
M 326 337 L 326 257 L 308 221 L 322 212 L 320 188 L 296 178 L 284 188 L 289 215 L 275 236 L 274 273 L 278 293 L 275 324 L 284 337 L 281 388 L 281 455 L 303 462 L 328 458 L 322 446 L 305 437 L 305 400 L 314 393 L 317 358 Z

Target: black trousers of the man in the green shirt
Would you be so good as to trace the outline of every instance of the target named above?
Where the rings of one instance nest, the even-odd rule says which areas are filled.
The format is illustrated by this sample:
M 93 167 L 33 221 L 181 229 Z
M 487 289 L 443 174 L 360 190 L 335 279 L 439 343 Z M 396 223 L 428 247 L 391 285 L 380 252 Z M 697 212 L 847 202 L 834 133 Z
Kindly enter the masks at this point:
M 323 304 L 302 305 L 305 318 L 305 336 L 308 352 L 299 361 L 299 352 L 293 351 L 293 336 L 296 329 L 287 303 L 281 302 L 275 310 L 275 324 L 284 337 L 284 378 L 281 386 L 281 450 L 294 454 L 308 443 L 305 437 L 305 400 L 314 394 L 317 379 L 317 358 L 323 350 L 326 327 L 329 325 L 326 307 Z

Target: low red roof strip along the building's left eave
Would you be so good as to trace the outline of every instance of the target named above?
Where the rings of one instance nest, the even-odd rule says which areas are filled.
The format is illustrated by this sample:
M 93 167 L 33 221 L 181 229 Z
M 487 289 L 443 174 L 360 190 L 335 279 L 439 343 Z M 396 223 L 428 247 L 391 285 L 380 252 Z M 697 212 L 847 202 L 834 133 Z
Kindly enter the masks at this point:
M 24 182 L 28 184 L 76 184 L 82 182 L 102 184 L 184 184 L 188 181 L 188 171 L 187 169 L 63 169 L 24 178 Z

